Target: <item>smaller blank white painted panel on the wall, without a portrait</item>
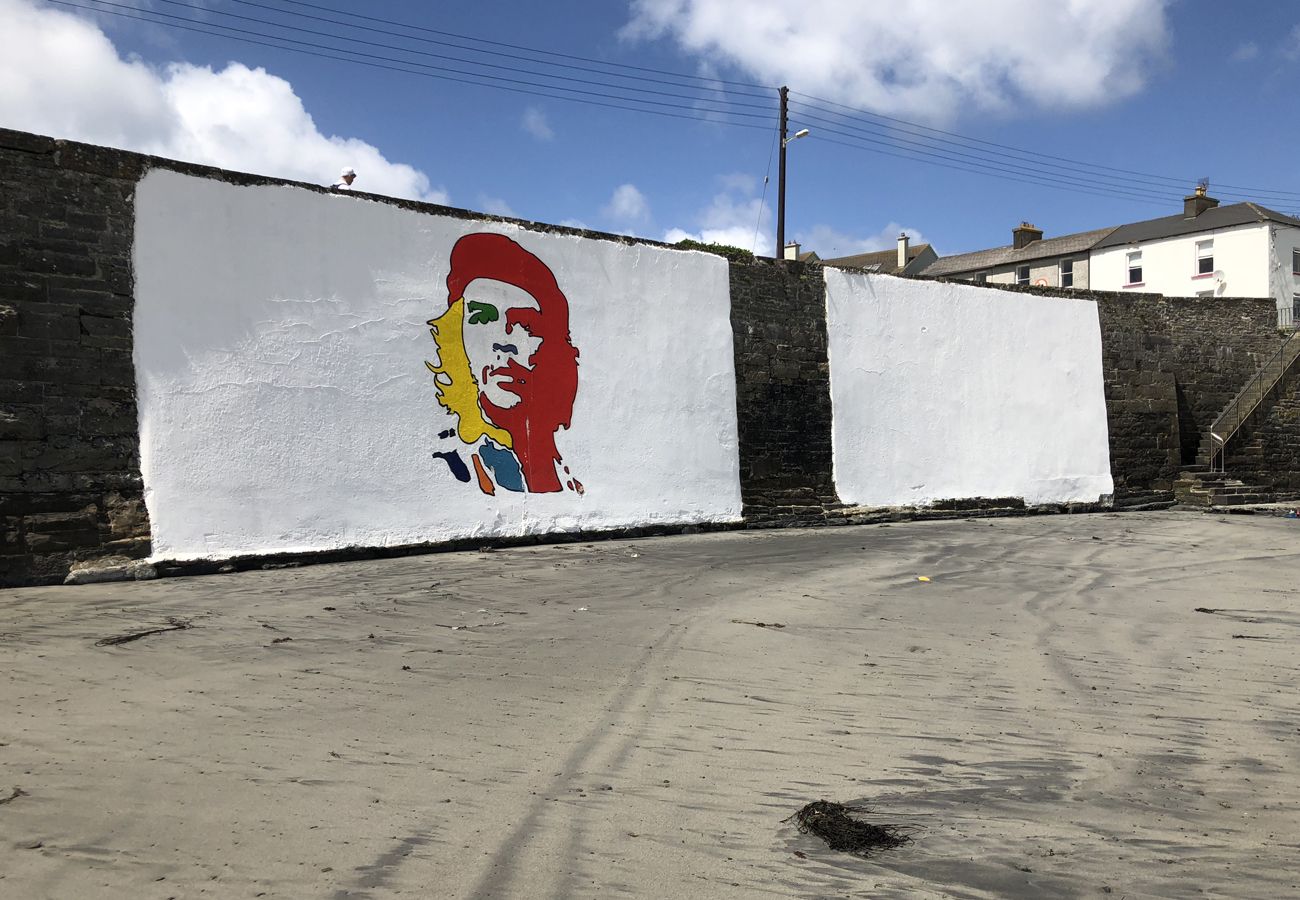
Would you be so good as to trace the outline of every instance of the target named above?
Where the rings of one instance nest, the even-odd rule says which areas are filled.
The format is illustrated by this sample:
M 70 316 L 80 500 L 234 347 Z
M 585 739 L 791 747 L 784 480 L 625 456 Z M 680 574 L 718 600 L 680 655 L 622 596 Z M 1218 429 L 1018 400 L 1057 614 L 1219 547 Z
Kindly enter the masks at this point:
M 841 501 L 1113 493 L 1096 303 L 836 269 L 826 287 Z

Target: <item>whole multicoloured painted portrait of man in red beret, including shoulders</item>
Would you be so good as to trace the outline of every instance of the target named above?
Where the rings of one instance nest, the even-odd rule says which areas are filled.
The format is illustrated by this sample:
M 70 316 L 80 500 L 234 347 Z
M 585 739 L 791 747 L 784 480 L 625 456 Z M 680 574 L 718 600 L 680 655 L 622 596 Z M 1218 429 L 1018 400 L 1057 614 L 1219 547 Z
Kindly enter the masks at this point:
M 438 404 L 454 441 L 433 453 L 458 481 L 497 489 L 585 493 L 555 436 L 569 428 L 578 350 L 551 269 L 503 234 L 467 234 L 451 250 L 446 312 L 429 320 Z

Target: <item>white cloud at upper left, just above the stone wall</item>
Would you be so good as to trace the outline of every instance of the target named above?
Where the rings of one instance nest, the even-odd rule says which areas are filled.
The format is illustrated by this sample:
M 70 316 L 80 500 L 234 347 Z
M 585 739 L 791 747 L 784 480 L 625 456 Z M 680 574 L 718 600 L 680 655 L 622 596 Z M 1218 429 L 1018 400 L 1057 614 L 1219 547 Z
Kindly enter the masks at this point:
M 0 125 L 157 156 L 447 203 L 445 190 L 358 138 L 324 135 L 283 78 L 230 62 L 159 70 L 124 60 L 92 22 L 0 0 Z

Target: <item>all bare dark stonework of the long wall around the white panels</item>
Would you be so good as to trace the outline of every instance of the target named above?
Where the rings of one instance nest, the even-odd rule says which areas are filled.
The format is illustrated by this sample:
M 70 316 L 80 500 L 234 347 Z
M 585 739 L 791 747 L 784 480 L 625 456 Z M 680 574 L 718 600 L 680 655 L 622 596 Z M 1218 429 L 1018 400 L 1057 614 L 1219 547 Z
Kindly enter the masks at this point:
M 58 581 L 78 561 L 150 553 L 131 243 L 135 183 L 151 166 L 285 183 L 0 130 L 0 585 Z M 1097 302 L 1118 499 L 1166 496 L 1200 434 L 1278 345 L 1269 299 L 989 289 Z M 822 267 L 733 261 L 731 294 L 746 524 L 845 522 L 832 471 Z M 1287 388 L 1240 460 L 1292 489 L 1297 390 Z

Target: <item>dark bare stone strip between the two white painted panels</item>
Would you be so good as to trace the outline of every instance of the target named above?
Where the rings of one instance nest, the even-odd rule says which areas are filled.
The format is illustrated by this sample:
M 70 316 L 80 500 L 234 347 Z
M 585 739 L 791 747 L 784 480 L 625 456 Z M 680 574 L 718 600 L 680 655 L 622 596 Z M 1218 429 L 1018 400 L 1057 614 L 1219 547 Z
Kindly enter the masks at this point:
M 745 518 L 819 519 L 837 505 L 822 267 L 732 263 L 731 295 Z

